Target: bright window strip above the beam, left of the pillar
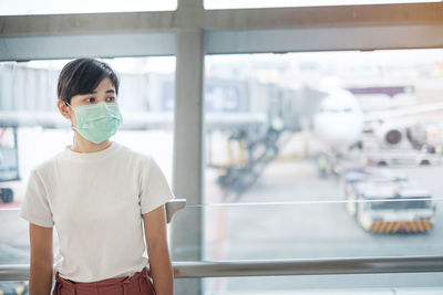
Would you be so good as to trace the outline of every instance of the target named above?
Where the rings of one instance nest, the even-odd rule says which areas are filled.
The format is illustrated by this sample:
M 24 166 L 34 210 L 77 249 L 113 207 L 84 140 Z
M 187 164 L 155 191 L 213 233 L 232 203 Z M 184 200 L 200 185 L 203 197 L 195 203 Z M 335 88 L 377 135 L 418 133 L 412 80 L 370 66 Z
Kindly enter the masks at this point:
M 71 13 L 106 13 L 106 12 L 138 12 L 168 11 L 177 9 L 177 0 L 164 1 L 8 1 L 0 0 L 0 15 L 29 14 L 71 14 Z

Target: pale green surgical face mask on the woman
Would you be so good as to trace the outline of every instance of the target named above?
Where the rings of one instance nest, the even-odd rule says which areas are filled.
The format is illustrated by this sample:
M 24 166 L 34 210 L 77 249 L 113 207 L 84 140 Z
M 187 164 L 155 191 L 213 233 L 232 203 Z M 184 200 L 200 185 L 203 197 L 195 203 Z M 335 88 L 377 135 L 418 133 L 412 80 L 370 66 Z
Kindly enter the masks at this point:
M 76 127 L 73 129 L 87 140 L 100 144 L 113 136 L 123 118 L 116 103 L 101 102 L 93 105 L 82 105 L 75 109 L 66 103 L 75 113 Z

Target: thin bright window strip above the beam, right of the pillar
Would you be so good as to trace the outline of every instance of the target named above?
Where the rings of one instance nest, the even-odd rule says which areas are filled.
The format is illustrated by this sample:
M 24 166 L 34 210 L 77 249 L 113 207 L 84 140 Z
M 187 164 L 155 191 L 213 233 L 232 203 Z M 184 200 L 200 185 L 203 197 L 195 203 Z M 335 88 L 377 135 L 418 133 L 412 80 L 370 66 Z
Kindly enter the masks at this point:
M 205 0 L 205 9 L 247 9 L 278 7 L 330 7 L 440 2 L 440 0 Z

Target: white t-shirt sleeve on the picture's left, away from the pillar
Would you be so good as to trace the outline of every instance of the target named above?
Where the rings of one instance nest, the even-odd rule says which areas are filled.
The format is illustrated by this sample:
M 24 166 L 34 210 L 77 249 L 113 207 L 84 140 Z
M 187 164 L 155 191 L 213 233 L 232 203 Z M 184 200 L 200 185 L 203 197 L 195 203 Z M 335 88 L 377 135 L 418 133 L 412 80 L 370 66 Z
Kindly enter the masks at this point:
M 40 226 L 52 228 L 54 225 L 47 190 L 35 170 L 31 171 L 24 200 L 20 208 L 20 217 Z

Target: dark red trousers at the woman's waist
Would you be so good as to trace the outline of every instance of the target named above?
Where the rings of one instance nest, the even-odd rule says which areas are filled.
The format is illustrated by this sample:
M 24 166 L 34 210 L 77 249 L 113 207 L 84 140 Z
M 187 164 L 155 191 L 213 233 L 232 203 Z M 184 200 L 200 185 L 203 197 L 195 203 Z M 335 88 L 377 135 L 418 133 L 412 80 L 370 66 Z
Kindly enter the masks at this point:
M 92 283 L 76 283 L 55 274 L 52 295 L 155 295 L 146 267 L 133 276 L 107 278 Z

